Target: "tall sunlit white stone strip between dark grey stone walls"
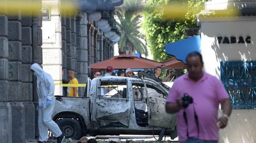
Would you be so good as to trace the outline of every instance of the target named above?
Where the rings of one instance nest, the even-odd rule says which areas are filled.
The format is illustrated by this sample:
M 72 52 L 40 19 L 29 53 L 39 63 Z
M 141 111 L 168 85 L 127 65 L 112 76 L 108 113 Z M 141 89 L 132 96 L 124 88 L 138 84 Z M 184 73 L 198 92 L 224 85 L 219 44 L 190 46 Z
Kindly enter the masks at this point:
M 55 83 L 62 80 L 61 17 L 60 0 L 42 1 L 42 7 L 49 7 L 51 20 L 43 21 L 43 70 L 48 72 Z M 55 85 L 55 96 L 62 95 L 62 86 Z

